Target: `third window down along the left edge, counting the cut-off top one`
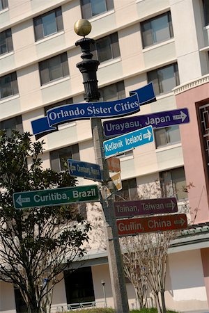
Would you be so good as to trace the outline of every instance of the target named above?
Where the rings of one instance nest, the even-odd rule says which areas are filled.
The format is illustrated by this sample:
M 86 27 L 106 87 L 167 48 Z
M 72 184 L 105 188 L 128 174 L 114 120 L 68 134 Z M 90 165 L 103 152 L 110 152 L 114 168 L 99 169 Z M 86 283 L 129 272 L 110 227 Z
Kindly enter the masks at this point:
M 0 99 L 18 94 L 16 72 L 0 77 Z

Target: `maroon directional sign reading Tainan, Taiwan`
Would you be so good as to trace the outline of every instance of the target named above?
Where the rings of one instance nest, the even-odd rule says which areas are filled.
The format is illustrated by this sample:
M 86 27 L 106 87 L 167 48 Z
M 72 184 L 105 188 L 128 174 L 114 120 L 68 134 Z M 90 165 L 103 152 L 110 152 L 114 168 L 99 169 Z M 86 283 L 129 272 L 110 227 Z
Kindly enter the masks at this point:
M 116 218 L 149 214 L 167 214 L 178 211 L 176 198 L 114 202 L 114 209 Z

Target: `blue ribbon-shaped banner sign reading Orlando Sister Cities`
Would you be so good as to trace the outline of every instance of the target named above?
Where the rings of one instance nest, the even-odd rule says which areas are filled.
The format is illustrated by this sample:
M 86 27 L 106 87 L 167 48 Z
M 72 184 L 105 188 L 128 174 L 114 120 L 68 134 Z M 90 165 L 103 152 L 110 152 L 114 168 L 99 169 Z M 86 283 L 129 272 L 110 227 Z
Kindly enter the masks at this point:
M 130 92 L 130 97 L 111 102 L 66 104 L 47 111 L 47 116 L 31 122 L 33 134 L 38 138 L 55 131 L 57 125 L 72 120 L 113 118 L 130 115 L 140 110 L 140 105 L 156 101 L 153 83 Z

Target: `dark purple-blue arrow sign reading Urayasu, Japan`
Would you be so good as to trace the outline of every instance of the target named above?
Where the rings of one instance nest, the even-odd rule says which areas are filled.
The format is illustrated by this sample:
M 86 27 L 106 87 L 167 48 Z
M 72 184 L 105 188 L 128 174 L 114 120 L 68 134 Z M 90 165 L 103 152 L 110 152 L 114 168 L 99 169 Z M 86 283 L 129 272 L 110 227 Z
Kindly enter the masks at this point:
M 146 126 L 153 128 L 168 127 L 171 125 L 180 125 L 189 123 L 188 109 L 176 109 L 173 111 L 163 111 L 146 115 L 134 116 L 132 118 L 121 118 L 118 120 L 108 120 L 103 123 L 104 135 L 118 136 L 129 133 L 136 129 Z

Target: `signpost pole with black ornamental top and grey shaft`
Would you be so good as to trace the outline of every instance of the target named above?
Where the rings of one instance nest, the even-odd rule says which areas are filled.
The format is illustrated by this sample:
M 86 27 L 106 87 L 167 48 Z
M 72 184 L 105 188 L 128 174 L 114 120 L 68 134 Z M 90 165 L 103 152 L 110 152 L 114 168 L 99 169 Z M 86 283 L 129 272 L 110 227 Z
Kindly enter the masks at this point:
M 100 64 L 98 60 L 92 60 L 91 44 L 94 42 L 91 38 L 82 38 L 75 42 L 76 46 L 82 48 L 82 62 L 77 63 L 77 67 L 83 75 L 84 80 L 84 99 L 86 102 L 98 101 L 100 93 L 98 92 L 97 70 Z M 102 211 L 104 216 L 105 234 L 107 238 L 107 252 L 109 262 L 109 272 L 111 278 L 111 287 L 114 297 L 114 305 L 117 313 L 128 313 L 127 291 L 125 287 L 125 276 L 123 271 L 123 259 L 118 239 L 118 230 L 116 225 L 116 216 L 114 214 L 114 183 L 109 177 L 107 161 L 104 159 L 102 131 L 102 122 L 100 118 L 91 118 L 91 129 L 93 136 L 93 147 L 95 151 L 96 162 L 100 165 L 103 172 L 104 184 L 109 188 L 112 195 L 107 200 L 102 200 Z

